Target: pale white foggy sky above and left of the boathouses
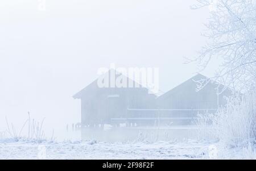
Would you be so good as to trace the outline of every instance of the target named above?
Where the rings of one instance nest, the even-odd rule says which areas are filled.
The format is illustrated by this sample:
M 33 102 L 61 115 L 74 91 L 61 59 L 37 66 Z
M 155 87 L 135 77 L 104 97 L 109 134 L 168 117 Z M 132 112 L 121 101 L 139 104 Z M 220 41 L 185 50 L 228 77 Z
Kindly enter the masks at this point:
M 205 44 L 208 9 L 196 1 L 37 0 L 0 2 L 0 130 L 5 115 L 23 123 L 46 117 L 48 127 L 80 121 L 72 95 L 109 67 L 159 67 L 160 89 L 193 76 L 184 65 Z M 211 76 L 214 69 L 203 74 Z

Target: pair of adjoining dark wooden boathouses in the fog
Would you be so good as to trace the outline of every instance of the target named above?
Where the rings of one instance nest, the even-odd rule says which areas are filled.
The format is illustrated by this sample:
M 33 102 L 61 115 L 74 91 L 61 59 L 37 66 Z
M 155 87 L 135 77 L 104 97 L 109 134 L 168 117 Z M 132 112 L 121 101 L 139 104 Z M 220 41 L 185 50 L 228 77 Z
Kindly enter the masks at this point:
M 206 78 L 197 74 L 158 98 L 144 87 L 101 88 L 96 80 L 74 95 L 81 99 L 81 126 L 191 123 L 197 114 L 216 112 L 231 95 L 228 89 L 217 95 L 216 82 L 196 91 L 195 81 Z

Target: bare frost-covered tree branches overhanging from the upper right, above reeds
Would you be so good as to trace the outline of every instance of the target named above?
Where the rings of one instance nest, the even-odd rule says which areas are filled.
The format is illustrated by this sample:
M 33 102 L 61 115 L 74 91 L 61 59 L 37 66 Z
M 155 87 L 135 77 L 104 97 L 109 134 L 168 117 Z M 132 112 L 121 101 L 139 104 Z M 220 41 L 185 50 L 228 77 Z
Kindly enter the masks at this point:
M 197 0 L 193 9 L 208 6 L 209 42 L 196 61 L 203 70 L 210 60 L 222 61 L 215 80 L 236 91 L 249 90 L 256 85 L 256 1 L 255 0 Z M 201 82 L 203 87 L 208 81 Z

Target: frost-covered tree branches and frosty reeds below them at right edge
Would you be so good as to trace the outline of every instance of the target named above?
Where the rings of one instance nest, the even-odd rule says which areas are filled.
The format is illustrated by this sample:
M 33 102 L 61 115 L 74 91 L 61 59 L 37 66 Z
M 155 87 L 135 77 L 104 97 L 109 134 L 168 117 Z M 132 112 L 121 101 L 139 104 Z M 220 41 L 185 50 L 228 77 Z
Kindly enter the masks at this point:
M 205 6 L 210 9 L 205 32 L 209 43 L 193 61 L 204 69 L 213 58 L 220 58 L 222 65 L 214 79 L 234 91 L 243 91 L 230 97 L 227 105 L 210 118 L 213 123 L 210 133 L 228 147 L 250 147 L 256 137 L 256 1 L 197 1 L 194 9 Z M 201 89 L 209 80 L 198 82 L 197 88 Z

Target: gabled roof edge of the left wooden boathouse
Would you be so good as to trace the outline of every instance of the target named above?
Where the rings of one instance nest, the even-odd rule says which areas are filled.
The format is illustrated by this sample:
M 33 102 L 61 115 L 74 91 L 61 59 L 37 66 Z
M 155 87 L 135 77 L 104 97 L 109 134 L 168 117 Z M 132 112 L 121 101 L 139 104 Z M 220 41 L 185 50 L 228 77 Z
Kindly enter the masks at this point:
M 121 75 L 121 73 L 117 72 L 116 70 L 114 69 L 109 69 L 108 72 L 104 73 L 104 74 L 110 74 L 110 72 L 115 72 L 115 78 L 119 77 Z M 123 74 L 122 74 L 123 75 Z M 146 87 L 142 86 L 141 84 L 139 84 L 138 82 L 130 79 L 129 77 L 123 75 L 123 77 L 127 78 L 127 84 L 129 84 L 129 81 L 132 81 L 133 84 L 138 84 L 139 87 L 135 87 L 135 88 L 141 88 L 141 89 L 147 89 Z M 97 85 L 97 81 L 98 81 L 98 78 L 96 80 L 94 80 L 91 84 L 89 84 L 88 86 L 84 87 L 84 89 L 80 90 L 78 93 L 76 93 L 75 95 L 73 95 L 73 98 L 75 99 L 80 99 L 82 97 L 83 94 L 86 94 L 86 92 L 90 92 L 90 91 L 93 91 L 95 90 L 96 88 L 99 88 L 98 85 Z M 147 91 L 149 91 L 147 89 Z

